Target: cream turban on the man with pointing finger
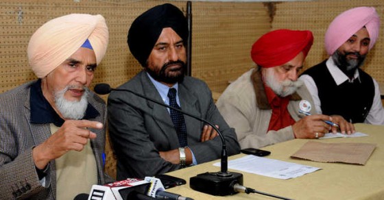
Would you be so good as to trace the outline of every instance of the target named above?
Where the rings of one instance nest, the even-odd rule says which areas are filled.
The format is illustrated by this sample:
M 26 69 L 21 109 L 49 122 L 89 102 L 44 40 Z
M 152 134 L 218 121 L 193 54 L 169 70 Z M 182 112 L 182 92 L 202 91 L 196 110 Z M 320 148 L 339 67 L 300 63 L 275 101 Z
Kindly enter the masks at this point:
M 29 40 L 29 65 L 39 78 L 67 60 L 88 39 L 99 64 L 108 46 L 108 27 L 103 16 L 68 14 L 53 18 L 37 29 Z

